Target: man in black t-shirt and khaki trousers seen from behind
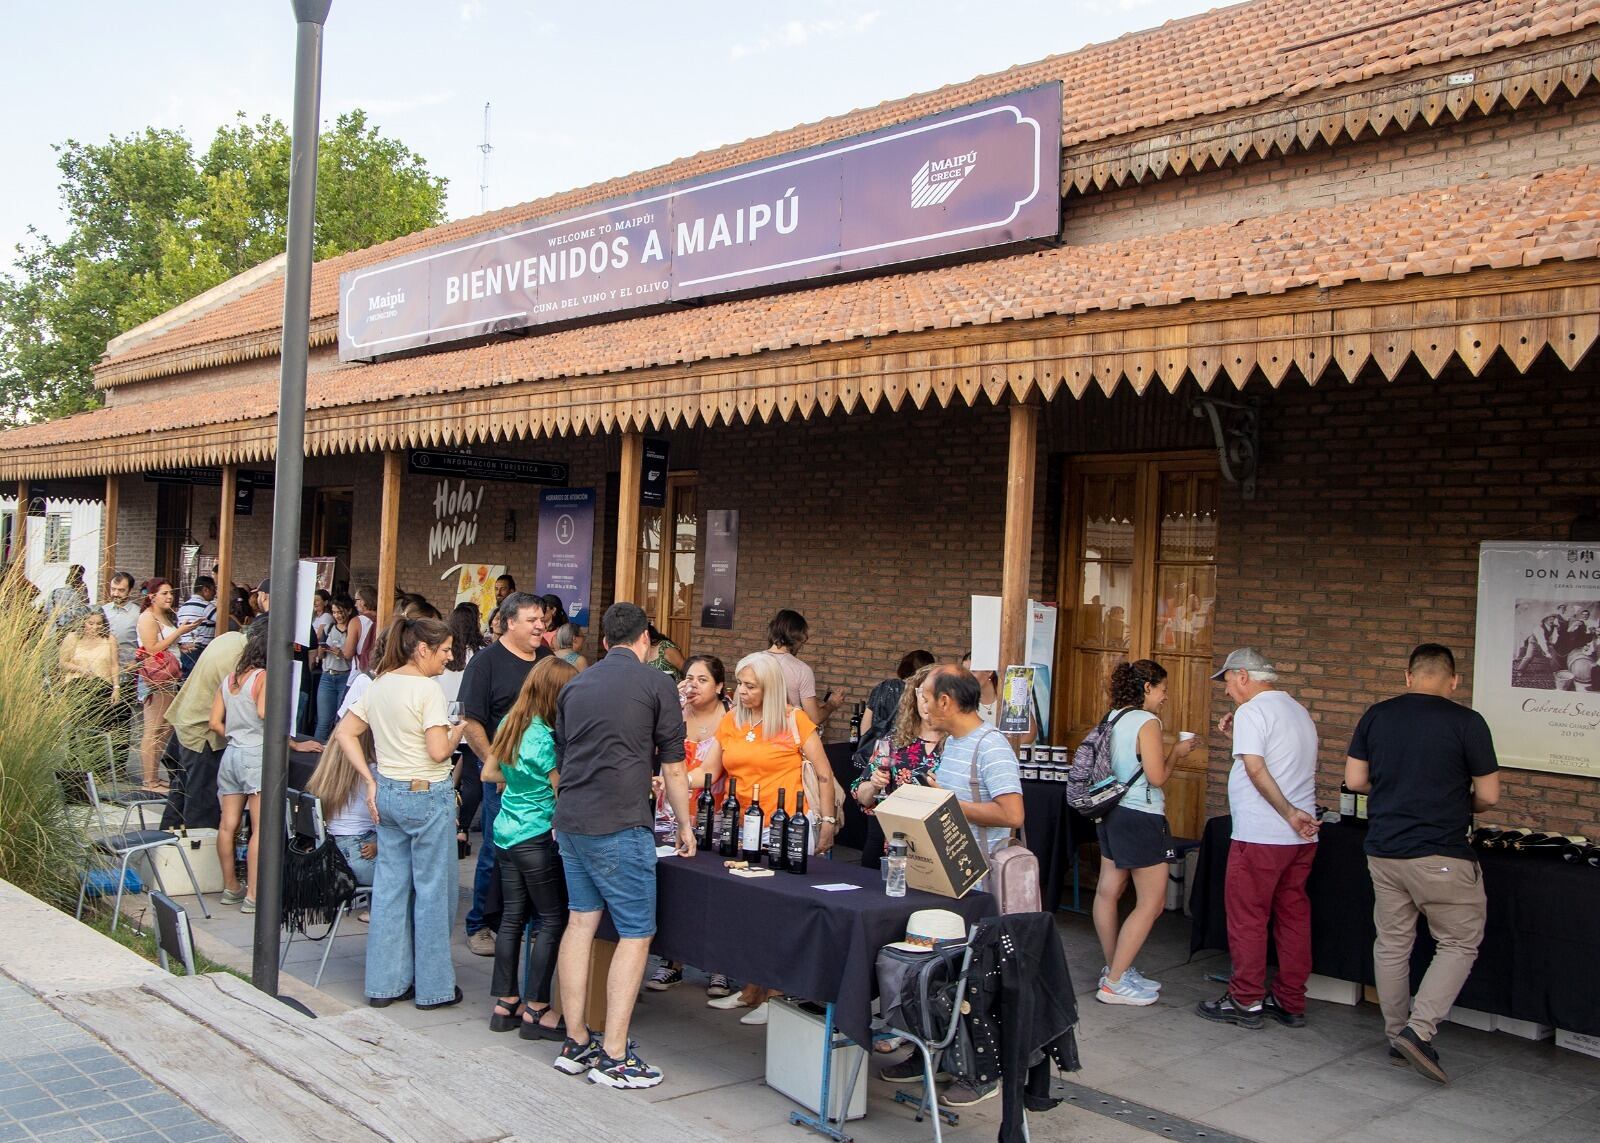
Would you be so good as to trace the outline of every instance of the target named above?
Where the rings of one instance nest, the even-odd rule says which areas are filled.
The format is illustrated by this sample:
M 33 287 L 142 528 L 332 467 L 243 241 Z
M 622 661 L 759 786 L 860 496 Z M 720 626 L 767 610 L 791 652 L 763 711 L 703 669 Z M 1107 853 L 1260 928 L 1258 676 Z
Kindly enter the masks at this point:
M 1499 800 L 1499 773 L 1488 722 L 1450 700 L 1461 677 L 1448 647 L 1422 644 L 1411 652 L 1405 682 L 1405 695 L 1362 716 L 1344 781 L 1368 796 L 1373 965 L 1389 1055 L 1448 1084 L 1432 1039 L 1483 940 L 1483 877 L 1467 834 L 1472 815 Z M 1413 1001 L 1418 914 L 1427 917 L 1438 951 Z

